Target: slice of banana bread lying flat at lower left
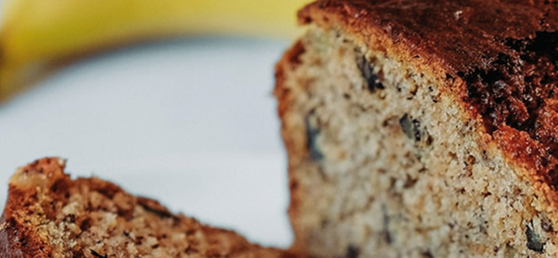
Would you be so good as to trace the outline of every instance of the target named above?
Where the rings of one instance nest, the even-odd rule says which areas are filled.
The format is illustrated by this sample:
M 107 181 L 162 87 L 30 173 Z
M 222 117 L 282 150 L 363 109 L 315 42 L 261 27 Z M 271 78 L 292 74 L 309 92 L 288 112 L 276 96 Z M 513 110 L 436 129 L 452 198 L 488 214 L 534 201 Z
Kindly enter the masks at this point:
M 71 180 L 63 169 L 63 160 L 45 158 L 12 176 L 1 258 L 290 257 L 107 181 Z

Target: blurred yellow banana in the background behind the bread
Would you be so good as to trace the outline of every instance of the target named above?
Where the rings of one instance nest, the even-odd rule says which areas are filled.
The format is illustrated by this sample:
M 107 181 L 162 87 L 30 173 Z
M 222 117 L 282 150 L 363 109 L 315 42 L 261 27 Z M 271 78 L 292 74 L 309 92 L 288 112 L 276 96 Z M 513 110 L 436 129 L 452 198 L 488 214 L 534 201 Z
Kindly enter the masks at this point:
M 0 103 L 83 56 L 199 35 L 292 38 L 309 0 L 3 0 Z

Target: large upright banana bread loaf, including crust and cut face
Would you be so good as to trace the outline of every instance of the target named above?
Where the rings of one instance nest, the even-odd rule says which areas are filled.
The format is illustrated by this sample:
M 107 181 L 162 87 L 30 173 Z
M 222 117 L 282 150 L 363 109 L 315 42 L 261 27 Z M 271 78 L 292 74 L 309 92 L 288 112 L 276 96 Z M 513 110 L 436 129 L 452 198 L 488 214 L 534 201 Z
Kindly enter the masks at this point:
M 294 249 L 558 257 L 557 4 L 301 10 L 275 91 Z

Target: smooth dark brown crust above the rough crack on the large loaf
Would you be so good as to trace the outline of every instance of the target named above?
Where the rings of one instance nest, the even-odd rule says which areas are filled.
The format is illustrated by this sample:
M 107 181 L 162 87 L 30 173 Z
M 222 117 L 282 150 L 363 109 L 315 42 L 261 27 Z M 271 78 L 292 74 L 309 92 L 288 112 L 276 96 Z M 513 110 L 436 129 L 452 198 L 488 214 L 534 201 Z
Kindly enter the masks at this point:
M 515 2 L 515 3 L 513 3 Z M 534 38 L 537 31 L 555 31 L 556 1 L 389 1 L 323 0 L 299 12 L 299 22 L 321 15 L 358 29 L 383 31 L 395 44 L 434 56 L 457 75 L 490 69 L 498 54 L 515 54 L 505 39 Z

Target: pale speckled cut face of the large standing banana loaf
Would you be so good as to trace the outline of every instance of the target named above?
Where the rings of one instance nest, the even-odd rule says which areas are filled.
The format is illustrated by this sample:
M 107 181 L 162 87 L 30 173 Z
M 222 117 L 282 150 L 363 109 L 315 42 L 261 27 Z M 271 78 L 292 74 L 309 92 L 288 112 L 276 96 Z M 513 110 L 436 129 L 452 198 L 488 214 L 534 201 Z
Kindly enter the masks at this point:
M 445 77 L 360 42 L 311 26 L 277 67 L 294 248 L 317 257 L 556 257 L 556 210 L 487 142 L 485 120 L 445 91 Z

